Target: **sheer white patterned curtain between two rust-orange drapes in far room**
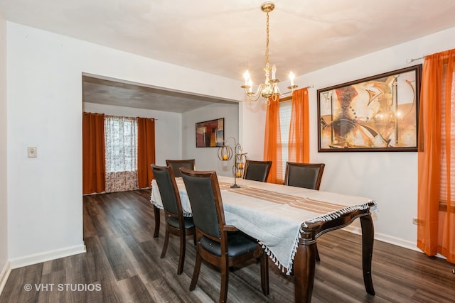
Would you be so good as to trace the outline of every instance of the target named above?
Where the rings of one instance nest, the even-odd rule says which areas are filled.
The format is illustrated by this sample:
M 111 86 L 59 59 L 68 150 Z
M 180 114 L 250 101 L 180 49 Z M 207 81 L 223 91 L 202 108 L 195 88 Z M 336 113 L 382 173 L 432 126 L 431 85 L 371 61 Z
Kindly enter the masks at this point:
M 106 192 L 124 192 L 137 184 L 137 119 L 105 116 Z

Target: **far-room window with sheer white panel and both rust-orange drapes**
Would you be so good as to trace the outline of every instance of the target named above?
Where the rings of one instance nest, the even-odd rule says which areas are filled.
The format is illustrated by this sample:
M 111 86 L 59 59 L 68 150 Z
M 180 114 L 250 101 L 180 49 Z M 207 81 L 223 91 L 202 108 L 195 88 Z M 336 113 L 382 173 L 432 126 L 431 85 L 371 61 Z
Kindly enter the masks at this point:
M 155 162 L 155 119 L 82 116 L 82 192 L 150 187 Z

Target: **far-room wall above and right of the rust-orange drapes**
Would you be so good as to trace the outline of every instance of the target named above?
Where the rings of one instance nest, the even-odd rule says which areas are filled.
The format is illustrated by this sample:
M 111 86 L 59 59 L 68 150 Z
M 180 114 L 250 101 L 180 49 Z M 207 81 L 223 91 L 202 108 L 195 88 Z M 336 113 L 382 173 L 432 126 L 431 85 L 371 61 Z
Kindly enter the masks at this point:
M 83 111 L 107 114 L 111 116 L 154 118 L 156 165 L 166 165 L 166 159 L 181 159 L 181 114 L 86 102 L 83 104 Z

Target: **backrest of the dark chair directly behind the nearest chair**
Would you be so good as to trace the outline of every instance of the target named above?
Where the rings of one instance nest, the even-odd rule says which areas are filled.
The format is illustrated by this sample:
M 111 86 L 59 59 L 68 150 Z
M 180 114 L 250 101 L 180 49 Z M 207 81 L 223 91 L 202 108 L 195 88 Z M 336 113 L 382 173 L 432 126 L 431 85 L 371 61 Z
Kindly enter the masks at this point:
M 158 166 L 151 164 L 156 184 L 158 184 L 164 210 L 176 216 L 183 216 L 182 204 L 176 178 L 171 166 Z M 152 189 L 153 190 L 153 189 Z

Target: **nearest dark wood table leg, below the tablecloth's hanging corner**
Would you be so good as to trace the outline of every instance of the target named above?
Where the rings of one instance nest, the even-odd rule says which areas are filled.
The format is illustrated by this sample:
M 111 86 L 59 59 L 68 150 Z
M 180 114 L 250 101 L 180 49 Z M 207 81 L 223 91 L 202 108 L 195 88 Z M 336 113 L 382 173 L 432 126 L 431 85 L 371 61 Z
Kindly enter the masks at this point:
M 304 233 L 302 233 L 304 236 Z M 301 239 L 294 258 L 295 302 L 311 302 L 316 267 L 316 241 Z

